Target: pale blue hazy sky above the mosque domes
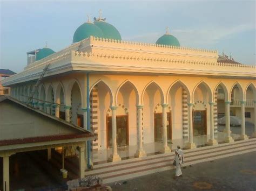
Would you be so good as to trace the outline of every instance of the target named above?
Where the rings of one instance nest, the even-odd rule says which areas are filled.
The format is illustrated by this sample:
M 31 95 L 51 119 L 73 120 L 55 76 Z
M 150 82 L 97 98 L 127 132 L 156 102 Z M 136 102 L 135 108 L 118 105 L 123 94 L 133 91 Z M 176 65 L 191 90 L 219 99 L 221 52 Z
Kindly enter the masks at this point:
M 255 1 L 1 1 L 0 68 L 21 72 L 26 52 L 72 44 L 87 15 L 102 16 L 123 40 L 155 43 L 166 32 L 181 46 L 223 51 L 255 65 Z

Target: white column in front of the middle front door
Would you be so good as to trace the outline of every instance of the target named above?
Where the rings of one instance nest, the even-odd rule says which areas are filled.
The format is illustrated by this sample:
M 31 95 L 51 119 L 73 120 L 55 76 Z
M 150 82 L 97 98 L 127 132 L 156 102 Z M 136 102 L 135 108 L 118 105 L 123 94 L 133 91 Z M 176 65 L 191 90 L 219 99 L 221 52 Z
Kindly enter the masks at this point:
M 167 103 L 161 104 L 163 108 L 162 112 L 162 125 L 163 125 L 163 147 L 160 149 L 162 153 L 169 153 L 171 152 L 170 147 L 167 144 Z

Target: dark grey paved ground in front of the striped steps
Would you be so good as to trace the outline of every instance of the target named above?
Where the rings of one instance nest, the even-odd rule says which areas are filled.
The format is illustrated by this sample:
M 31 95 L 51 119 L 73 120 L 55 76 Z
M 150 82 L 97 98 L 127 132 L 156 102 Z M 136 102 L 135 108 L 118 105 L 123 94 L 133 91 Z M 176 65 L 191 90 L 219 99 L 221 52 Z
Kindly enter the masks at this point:
M 183 168 L 183 177 L 173 180 L 175 170 L 110 184 L 113 190 L 256 190 L 256 152 L 235 155 Z M 124 182 L 124 183 L 123 183 Z

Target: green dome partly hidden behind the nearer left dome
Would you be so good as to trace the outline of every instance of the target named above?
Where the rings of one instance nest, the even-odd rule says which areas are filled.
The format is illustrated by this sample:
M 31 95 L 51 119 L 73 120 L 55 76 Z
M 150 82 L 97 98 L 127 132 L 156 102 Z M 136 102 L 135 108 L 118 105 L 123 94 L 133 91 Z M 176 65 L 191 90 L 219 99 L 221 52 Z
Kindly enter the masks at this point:
M 113 25 L 104 21 L 95 21 L 94 24 L 102 30 L 104 38 L 122 40 L 120 33 Z

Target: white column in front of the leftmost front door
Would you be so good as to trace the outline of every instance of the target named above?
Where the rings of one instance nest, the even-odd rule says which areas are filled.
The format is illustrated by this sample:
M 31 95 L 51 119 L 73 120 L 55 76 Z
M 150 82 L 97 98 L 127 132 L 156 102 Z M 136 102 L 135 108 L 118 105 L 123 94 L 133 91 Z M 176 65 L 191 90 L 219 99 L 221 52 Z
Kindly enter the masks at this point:
M 116 118 L 116 106 L 110 107 L 112 110 L 112 146 L 113 154 L 110 155 L 110 161 L 121 160 L 119 154 L 117 153 L 117 118 Z

